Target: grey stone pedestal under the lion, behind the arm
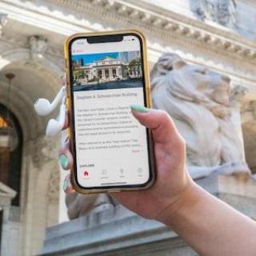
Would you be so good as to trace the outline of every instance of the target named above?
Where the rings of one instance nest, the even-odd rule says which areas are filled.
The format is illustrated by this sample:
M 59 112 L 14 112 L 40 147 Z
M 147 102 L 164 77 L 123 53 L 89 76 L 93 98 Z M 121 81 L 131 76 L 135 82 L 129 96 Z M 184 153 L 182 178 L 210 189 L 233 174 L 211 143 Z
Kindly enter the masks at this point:
M 255 182 L 245 176 L 212 176 L 198 183 L 243 214 L 256 218 Z M 162 223 L 146 220 L 116 206 L 50 227 L 40 255 L 197 254 Z

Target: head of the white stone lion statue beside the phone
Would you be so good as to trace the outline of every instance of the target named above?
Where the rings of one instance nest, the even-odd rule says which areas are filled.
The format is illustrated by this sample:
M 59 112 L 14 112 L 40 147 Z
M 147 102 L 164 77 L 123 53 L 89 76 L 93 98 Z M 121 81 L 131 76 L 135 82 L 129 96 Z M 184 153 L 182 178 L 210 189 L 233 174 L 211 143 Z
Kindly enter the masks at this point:
M 168 93 L 176 92 L 176 96 L 189 101 L 203 102 L 208 98 L 224 106 L 230 102 L 230 78 L 203 66 L 187 64 L 177 54 L 163 54 L 150 78 L 152 91 L 168 85 Z

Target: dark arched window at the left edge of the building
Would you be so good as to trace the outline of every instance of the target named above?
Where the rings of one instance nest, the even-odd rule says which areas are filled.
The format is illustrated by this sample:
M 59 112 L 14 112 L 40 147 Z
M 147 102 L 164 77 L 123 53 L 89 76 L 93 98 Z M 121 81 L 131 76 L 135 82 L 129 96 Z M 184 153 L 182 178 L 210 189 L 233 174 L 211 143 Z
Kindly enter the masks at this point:
M 19 206 L 21 174 L 22 174 L 22 129 L 14 114 L 9 111 L 7 118 L 6 106 L 0 104 L 0 129 L 13 126 L 18 135 L 18 146 L 13 152 L 0 151 L 0 182 L 10 186 L 17 192 L 12 201 L 13 206 Z

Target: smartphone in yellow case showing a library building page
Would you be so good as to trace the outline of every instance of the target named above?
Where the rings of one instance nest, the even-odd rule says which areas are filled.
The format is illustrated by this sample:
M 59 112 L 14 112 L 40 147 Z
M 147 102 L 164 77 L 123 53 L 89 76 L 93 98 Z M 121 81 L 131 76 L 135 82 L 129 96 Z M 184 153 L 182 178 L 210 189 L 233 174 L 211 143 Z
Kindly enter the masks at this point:
M 148 189 L 155 179 L 151 133 L 130 110 L 150 107 L 145 37 L 137 30 L 74 34 L 64 49 L 74 190 Z

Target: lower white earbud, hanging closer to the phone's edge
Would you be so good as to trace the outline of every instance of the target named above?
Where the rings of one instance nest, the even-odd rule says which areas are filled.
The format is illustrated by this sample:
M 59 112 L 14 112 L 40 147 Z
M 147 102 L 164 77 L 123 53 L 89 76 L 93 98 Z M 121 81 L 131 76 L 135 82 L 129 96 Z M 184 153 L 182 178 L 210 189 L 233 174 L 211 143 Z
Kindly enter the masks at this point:
M 63 99 L 58 120 L 57 119 L 50 119 L 46 127 L 46 135 L 47 136 L 55 136 L 57 135 L 64 127 L 66 119 L 66 102 Z

